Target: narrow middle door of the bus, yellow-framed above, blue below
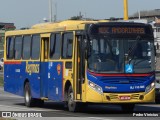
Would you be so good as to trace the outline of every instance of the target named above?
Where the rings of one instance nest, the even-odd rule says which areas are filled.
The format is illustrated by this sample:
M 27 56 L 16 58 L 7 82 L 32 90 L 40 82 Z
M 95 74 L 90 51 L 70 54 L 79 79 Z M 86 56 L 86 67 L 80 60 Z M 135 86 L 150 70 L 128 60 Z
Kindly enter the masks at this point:
M 41 35 L 41 63 L 40 63 L 40 88 L 41 97 L 48 97 L 48 51 L 49 51 L 49 35 Z

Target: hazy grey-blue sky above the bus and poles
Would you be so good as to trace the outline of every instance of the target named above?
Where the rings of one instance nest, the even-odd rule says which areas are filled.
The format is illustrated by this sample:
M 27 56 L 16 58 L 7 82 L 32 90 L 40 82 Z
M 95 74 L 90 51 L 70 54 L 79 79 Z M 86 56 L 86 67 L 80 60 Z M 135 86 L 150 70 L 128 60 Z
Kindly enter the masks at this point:
M 66 20 L 81 12 L 84 17 L 108 19 L 123 17 L 123 0 L 52 0 L 57 20 Z M 55 10 L 55 4 L 57 10 Z M 160 9 L 160 0 L 128 0 L 129 15 L 140 10 Z M 49 0 L 0 0 L 0 22 L 16 28 L 31 27 L 49 19 Z

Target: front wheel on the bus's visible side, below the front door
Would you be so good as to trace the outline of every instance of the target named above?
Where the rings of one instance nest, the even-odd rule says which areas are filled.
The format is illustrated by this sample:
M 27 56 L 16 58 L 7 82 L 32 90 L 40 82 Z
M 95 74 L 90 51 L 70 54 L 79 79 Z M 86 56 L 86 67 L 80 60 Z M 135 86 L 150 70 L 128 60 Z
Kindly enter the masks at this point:
M 69 87 L 68 89 L 68 110 L 70 112 L 76 112 L 78 111 L 78 103 L 74 101 L 74 98 L 73 98 L 73 89 L 72 89 L 72 86 Z

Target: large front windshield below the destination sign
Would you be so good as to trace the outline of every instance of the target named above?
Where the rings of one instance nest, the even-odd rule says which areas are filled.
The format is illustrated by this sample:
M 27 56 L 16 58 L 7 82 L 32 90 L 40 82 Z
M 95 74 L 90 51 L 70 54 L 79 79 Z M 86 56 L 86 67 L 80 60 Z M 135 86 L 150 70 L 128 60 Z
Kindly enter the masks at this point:
M 132 73 L 154 70 L 154 41 L 150 38 L 90 37 L 88 69 L 96 73 L 126 73 L 125 66 L 133 66 Z

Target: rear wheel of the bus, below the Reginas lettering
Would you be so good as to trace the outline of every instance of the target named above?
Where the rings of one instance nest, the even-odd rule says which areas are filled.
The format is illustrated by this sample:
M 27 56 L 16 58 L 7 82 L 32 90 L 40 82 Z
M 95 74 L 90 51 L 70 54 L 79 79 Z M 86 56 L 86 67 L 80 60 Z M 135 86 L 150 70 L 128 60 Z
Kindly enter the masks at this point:
M 31 96 L 31 88 L 30 88 L 29 82 L 27 82 L 25 84 L 24 100 L 25 100 L 25 105 L 27 107 L 33 107 L 33 105 L 35 103 L 35 99 L 33 99 L 32 96 Z

